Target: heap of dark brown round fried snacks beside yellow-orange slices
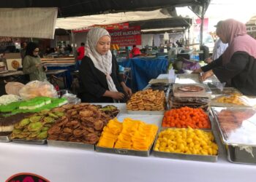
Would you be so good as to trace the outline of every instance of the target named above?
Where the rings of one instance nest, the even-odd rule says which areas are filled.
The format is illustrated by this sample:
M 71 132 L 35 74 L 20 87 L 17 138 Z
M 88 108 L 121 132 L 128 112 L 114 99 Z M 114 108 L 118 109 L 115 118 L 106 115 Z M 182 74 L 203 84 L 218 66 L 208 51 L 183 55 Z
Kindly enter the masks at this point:
M 48 130 L 48 140 L 95 144 L 99 141 L 103 127 L 112 119 L 99 107 L 89 103 L 64 105 L 56 108 L 56 111 L 63 109 L 65 116 Z

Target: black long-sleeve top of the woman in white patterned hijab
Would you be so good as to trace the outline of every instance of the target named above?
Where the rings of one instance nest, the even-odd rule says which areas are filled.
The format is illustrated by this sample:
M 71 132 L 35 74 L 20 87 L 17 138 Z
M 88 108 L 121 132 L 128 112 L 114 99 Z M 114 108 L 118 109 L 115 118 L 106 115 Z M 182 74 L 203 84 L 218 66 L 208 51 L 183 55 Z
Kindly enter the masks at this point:
M 82 59 L 82 63 L 79 67 L 80 76 L 80 92 L 78 97 L 82 102 L 87 103 L 113 103 L 113 98 L 104 97 L 104 93 L 108 90 L 108 82 L 106 76 L 102 71 L 95 68 L 91 58 L 85 56 Z M 110 76 L 116 84 L 116 90 L 123 92 L 121 82 L 124 79 L 118 74 L 118 63 L 116 58 L 112 57 L 112 73 Z M 123 102 L 124 100 L 120 100 Z

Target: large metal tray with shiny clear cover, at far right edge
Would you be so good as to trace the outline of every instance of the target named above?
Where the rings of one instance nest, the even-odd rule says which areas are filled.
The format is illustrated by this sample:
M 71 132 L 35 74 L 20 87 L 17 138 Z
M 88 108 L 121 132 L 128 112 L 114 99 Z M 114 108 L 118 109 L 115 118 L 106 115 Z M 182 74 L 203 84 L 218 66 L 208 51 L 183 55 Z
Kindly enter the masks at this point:
M 256 109 L 212 107 L 211 110 L 227 150 L 227 159 L 255 165 Z

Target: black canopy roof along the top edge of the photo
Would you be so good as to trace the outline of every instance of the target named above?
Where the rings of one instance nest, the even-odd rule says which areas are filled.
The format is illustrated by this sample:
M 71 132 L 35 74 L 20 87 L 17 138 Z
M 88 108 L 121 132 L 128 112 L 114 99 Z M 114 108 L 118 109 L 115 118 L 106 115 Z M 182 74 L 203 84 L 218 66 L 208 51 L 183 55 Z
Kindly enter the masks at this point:
M 208 0 L 7 0 L 0 1 L 0 7 L 58 7 L 58 17 L 106 14 L 110 12 L 128 12 L 162 7 L 201 5 Z

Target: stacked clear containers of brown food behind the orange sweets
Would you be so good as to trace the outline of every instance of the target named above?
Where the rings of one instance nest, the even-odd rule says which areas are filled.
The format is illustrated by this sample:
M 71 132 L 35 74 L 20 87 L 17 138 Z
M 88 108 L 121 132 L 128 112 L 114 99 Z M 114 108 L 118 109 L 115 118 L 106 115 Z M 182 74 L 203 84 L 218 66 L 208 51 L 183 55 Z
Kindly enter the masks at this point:
M 170 108 L 203 108 L 208 111 L 211 90 L 206 84 L 173 84 L 173 96 L 169 98 Z

